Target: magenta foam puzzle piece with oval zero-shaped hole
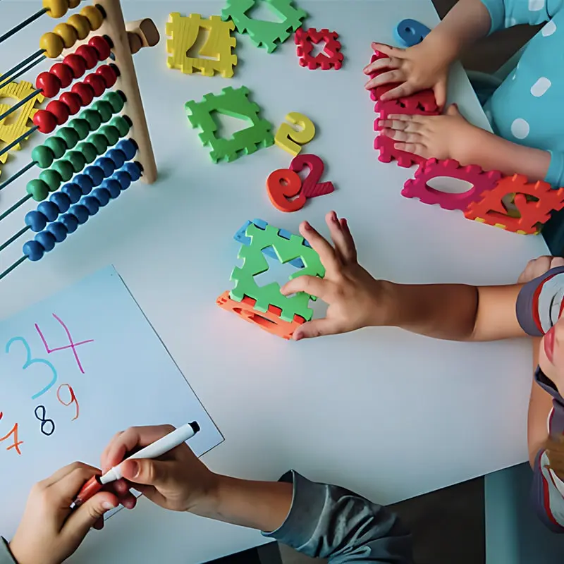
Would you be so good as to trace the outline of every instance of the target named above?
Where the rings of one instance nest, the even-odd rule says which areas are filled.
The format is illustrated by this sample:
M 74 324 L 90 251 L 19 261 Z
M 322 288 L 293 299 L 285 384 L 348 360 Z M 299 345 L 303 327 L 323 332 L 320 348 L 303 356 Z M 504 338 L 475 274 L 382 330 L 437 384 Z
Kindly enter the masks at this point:
M 465 180 L 472 184 L 472 188 L 462 193 L 441 192 L 431 188 L 429 181 L 441 176 Z M 460 209 L 465 212 L 471 202 L 482 198 L 484 192 L 494 190 L 501 176 L 499 171 L 484 171 L 475 164 L 460 166 L 454 159 L 429 159 L 419 166 L 415 178 L 410 178 L 403 185 L 401 195 L 419 198 L 423 204 L 439 204 L 443 209 Z

